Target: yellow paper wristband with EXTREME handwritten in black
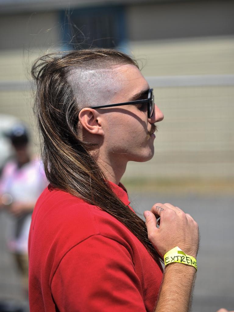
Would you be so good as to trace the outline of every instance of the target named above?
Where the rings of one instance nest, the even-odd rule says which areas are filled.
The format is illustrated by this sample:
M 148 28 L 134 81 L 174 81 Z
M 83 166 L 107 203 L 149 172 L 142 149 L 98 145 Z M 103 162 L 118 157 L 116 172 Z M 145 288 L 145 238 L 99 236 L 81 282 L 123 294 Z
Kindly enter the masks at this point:
M 194 266 L 197 270 L 197 260 L 192 256 L 186 255 L 186 253 L 184 253 L 178 246 L 169 250 L 164 255 L 165 266 L 173 262 L 188 264 L 189 266 Z

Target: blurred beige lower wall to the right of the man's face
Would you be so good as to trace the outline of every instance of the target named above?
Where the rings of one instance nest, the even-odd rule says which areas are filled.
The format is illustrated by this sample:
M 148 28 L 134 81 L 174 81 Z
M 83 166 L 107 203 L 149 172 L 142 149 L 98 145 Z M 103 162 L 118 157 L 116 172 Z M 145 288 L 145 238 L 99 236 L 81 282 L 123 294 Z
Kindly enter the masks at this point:
M 233 178 L 233 39 L 130 43 L 134 56 L 145 59 L 142 72 L 152 82 L 156 104 L 165 116 L 158 124 L 155 156 L 145 163 L 143 174 Z M 141 166 L 131 163 L 129 177 L 139 173 Z

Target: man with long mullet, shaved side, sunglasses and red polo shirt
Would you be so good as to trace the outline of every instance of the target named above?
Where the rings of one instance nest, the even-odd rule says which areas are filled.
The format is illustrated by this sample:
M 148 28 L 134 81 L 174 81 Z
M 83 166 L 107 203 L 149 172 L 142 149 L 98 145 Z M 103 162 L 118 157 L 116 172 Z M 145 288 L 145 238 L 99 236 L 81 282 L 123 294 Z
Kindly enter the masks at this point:
M 197 223 L 156 203 L 145 224 L 120 183 L 129 161 L 153 157 L 163 119 L 136 61 L 73 51 L 43 56 L 32 75 L 50 184 L 30 229 L 30 311 L 189 311 Z

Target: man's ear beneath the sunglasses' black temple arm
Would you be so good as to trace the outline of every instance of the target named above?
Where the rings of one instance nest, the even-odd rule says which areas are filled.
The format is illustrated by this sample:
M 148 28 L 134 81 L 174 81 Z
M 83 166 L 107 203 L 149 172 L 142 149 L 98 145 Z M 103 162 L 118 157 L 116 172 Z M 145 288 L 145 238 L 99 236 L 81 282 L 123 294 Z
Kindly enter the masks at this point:
M 89 107 L 83 108 L 79 113 L 79 121 L 89 133 L 104 135 L 102 118 L 96 110 Z

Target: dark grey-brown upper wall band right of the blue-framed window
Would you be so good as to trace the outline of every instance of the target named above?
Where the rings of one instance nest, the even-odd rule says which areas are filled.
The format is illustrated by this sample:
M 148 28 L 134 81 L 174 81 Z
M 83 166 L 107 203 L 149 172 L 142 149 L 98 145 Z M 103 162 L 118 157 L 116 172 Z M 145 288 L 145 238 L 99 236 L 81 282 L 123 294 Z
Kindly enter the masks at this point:
M 233 35 L 234 2 L 161 1 L 128 7 L 133 41 Z

